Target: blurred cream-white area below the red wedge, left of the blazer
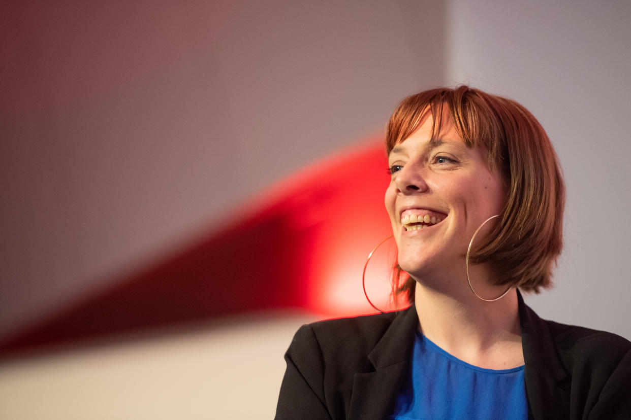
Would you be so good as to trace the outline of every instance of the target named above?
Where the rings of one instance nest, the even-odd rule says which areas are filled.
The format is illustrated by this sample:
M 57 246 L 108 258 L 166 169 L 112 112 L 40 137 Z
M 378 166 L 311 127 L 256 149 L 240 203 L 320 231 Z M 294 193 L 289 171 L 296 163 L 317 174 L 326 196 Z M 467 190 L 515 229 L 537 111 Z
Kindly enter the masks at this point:
M 272 419 L 297 325 L 281 312 L 0 361 L 0 419 Z

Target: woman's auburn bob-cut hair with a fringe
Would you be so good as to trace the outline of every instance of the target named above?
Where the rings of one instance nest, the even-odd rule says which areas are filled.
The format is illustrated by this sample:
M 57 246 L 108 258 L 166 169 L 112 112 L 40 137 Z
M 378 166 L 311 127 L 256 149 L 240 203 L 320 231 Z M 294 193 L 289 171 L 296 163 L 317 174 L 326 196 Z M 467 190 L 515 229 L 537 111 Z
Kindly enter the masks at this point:
M 508 196 L 500 222 L 472 250 L 473 263 L 491 263 L 502 274 L 497 285 L 539 293 L 551 286 L 551 270 L 563 247 L 565 184 L 548 135 L 534 116 L 512 99 L 468 86 L 437 88 L 403 99 L 390 117 L 386 151 L 410 137 L 427 113 L 432 140 L 450 118 L 467 147 L 482 147 Z M 416 281 L 398 264 L 392 276 L 397 300 L 414 302 Z

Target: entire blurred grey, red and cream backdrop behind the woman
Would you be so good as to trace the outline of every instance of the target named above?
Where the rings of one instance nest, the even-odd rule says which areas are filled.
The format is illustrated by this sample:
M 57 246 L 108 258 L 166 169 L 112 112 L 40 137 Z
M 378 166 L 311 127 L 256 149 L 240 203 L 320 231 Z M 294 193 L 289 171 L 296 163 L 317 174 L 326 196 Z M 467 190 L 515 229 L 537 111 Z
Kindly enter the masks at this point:
M 629 21 L 622 0 L 1 1 L 0 418 L 273 417 L 298 327 L 374 312 L 383 128 L 445 84 L 516 99 L 560 156 L 565 250 L 526 302 L 631 338 Z

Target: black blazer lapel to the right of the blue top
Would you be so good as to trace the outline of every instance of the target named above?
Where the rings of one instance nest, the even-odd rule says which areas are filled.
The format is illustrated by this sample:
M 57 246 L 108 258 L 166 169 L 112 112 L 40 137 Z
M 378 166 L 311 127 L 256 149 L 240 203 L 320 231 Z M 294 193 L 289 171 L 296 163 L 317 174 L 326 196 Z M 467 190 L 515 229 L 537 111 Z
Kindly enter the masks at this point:
M 569 413 L 569 392 L 563 387 L 568 375 L 558 358 L 550 331 L 517 291 L 521 341 L 526 363 L 526 395 L 530 417 L 536 420 L 565 419 Z

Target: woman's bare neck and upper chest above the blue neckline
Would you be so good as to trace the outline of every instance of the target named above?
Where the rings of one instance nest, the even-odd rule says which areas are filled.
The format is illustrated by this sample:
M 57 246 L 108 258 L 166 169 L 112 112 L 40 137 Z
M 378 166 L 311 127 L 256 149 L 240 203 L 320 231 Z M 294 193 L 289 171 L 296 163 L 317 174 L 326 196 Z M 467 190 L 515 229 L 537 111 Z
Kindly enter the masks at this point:
M 450 289 L 446 293 L 417 281 L 415 305 L 423 335 L 471 365 L 492 369 L 522 365 L 516 290 L 485 302 L 466 283 Z M 497 295 L 504 290 L 500 288 Z

